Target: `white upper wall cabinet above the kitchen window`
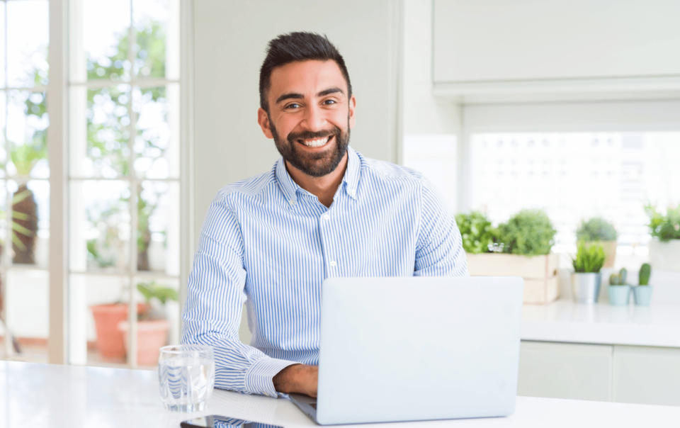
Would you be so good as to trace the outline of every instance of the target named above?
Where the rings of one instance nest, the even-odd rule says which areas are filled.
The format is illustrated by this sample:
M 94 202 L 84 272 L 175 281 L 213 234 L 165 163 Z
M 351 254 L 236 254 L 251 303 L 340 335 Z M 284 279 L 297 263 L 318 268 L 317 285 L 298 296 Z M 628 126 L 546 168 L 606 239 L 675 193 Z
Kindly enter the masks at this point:
M 435 0 L 434 80 L 680 76 L 677 0 Z

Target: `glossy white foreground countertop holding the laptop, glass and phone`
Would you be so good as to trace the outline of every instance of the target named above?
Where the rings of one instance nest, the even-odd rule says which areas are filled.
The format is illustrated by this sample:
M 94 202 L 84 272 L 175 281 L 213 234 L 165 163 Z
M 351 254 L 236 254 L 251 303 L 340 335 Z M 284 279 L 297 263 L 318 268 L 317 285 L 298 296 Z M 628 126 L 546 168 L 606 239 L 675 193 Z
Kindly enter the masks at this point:
M 163 409 L 154 371 L 0 361 L 0 427 L 168 427 L 202 415 L 283 427 L 318 427 L 293 403 L 215 390 L 205 412 Z M 509 417 L 370 427 L 678 427 L 680 407 L 518 397 Z M 368 427 L 368 425 L 365 425 Z M 359 427 L 352 425 L 351 427 Z

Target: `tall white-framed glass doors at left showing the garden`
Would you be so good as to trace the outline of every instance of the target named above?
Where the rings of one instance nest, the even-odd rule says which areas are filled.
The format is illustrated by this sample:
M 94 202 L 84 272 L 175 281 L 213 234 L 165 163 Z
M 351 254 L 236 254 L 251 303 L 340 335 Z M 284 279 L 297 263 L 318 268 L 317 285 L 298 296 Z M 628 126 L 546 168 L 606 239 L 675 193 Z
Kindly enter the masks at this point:
M 0 322 L 0 332 L 13 337 L 4 342 L 4 354 L 47 361 L 50 281 L 62 281 L 48 270 L 49 144 L 69 154 L 65 191 L 55 193 L 64 195 L 58 203 L 69 212 L 62 246 L 69 249 L 68 362 L 155 365 L 141 354 L 137 361 L 138 344 L 148 341 L 137 334 L 161 325 L 169 335 L 163 342 L 179 342 L 173 300 L 180 265 L 179 1 L 69 1 L 68 31 L 49 6 L 47 0 L 0 0 L 0 244 L 5 249 L 13 242 L 0 265 L 7 285 L 7 328 Z M 58 42 L 68 45 L 60 47 L 69 52 L 62 82 L 69 111 L 64 123 L 51 125 L 68 129 L 67 141 L 46 137 L 47 86 L 54 83 L 48 80 L 49 24 L 69 34 Z M 166 304 L 153 299 L 147 308 L 149 293 Z M 115 356 L 98 346 L 92 307 L 104 303 L 123 303 L 117 305 L 123 319 L 106 333 L 120 339 L 115 346 L 123 350 Z M 138 304 L 143 321 L 160 321 L 137 322 L 137 310 L 127 309 Z M 128 325 L 121 323 L 125 312 L 132 313 Z M 123 344 L 126 331 L 131 334 Z

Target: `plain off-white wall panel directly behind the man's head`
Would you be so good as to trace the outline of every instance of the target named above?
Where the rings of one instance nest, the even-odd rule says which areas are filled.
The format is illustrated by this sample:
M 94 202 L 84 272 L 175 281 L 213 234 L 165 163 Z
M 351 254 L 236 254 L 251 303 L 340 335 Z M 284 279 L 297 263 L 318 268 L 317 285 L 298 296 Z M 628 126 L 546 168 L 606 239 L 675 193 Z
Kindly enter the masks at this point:
M 397 161 L 398 1 L 199 0 L 193 8 L 196 236 L 220 188 L 269 171 L 279 156 L 256 113 L 266 44 L 281 33 L 325 33 L 339 48 L 357 99 L 350 145 Z

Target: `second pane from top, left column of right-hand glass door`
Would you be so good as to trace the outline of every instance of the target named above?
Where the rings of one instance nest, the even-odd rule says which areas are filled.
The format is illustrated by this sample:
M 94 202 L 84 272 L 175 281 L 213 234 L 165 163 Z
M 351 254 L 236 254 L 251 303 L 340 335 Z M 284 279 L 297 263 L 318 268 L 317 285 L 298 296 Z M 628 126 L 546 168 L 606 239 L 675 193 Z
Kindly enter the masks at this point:
M 120 84 L 110 88 L 74 88 L 72 94 L 87 97 L 85 107 L 80 99 L 74 101 L 71 146 L 71 175 L 114 179 L 128 175 L 130 170 L 130 86 Z M 77 128 L 75 128 L 77 126 Z M 85 127 L 82 130 L 81 127 Z

